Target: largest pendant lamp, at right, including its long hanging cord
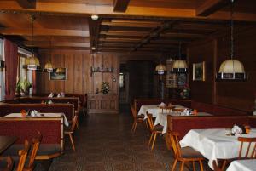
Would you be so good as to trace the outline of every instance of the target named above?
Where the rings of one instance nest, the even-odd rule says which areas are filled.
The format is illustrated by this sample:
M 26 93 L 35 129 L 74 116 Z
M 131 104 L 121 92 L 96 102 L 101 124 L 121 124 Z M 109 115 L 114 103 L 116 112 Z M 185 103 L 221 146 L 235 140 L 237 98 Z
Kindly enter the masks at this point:
M 217 81 L 245 81 L 246 73 L 244 66 L 239 60 L 234 60 L 234 20 L 233 20 L 233 4 L 231 0 L 230 12 L 230 60 L 224 60 L 219 67 Z

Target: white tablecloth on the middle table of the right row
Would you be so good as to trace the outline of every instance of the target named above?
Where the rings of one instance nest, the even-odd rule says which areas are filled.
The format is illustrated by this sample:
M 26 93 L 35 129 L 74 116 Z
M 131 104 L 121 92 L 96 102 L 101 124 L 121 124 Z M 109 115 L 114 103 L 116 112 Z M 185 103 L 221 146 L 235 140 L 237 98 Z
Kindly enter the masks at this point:
M 164 126 L 162 134 L 165 134 L 167 131 L 167 115 L 171 115 L 173 117 L 183 117 L 180 111 L 172 111 L 170 113 L 160 112 L 158 115 L 156 115 L 154 125 L 160 124 Z M 189 115 L 186 117 L 194 117 L 194 116 L 195 115 Z M 198 112 L 196 116 L 212 116 L 212 115 L 206 112 Z

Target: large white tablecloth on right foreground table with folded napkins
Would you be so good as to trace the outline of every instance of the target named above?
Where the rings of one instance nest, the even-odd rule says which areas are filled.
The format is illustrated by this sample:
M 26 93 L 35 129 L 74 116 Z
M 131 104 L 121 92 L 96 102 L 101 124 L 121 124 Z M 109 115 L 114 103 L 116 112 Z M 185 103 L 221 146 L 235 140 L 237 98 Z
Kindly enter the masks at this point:
M 180 141 L 181 147 L 190 146 L 209 159 L 208 165 L 212 167 L 212 161 L 238 157 L 241 143 L 237 136 L 228 136 L 224 128 L 191 129 Z M 256 128 L 250 134 L 241 134 L 241 137 L 256 137 Z M 253 145 L 252 145 L 253 146 Z

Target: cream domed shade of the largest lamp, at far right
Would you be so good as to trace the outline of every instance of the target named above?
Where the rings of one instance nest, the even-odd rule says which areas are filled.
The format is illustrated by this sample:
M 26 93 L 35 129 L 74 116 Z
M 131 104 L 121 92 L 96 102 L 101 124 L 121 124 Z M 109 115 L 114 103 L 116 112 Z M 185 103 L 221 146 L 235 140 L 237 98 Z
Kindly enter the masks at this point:
M 219 67 L 219 73 L 244 73 L 244 66 L 239 60 L 225 60 Z

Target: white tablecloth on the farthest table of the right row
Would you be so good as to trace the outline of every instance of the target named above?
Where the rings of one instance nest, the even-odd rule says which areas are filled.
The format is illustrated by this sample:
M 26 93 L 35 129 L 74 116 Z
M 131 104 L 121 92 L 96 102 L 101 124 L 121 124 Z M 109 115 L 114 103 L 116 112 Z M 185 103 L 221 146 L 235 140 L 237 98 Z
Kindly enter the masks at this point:
M 182 105 L 174 105 L 177 109 L 185 109 Z M 153 117 L 157 117 L 157 115 L 162 112 L 162 109 L 160 109 L 159 105 L 142 105 L 140 108 L 140 111 L 138 111 L 138 115 L 145 115 L 144 119 L 148 118 L 146 113 L 151 113 Z M 165 111 L 165 110 L 164 110 Z

